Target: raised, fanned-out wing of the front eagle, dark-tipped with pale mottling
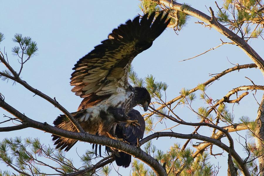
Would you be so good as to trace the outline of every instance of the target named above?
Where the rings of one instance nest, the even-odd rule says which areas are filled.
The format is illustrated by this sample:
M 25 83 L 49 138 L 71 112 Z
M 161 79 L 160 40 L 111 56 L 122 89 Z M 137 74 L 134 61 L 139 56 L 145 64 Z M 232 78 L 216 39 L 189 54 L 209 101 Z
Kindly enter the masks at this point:
M 160 13 L 155 21 L 155 13 L 137 16 L 128 20 L 109 34 L 108 39 L 95 46 L 94 50 L 81 58 L 71 77 L 72 92 L 82 98 L 100 100 L 100 96 L 110 96 L 117 88 L 128 88 L 128 67 L 133 58 L 148 49 L 152 42 L 167 27 L 168 14 Z M 94 98 L 93 98 L 94 97 Z M 79 107 L 79 109 L 82 109 Z

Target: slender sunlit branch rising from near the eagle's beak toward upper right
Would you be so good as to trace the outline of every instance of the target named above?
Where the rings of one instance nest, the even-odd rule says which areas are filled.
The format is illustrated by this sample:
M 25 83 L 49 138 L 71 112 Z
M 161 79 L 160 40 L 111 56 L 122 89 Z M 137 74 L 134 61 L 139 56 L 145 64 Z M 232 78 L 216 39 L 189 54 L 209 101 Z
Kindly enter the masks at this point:
M 235 67 L 232 67 L 232 68 L 226 69 L 225 71 L 222 71 L 221 73 L 215 75 L 213 78 L 209 79 L 208 81 L 206 81 L 206 82 L 204 82 L 204 83 L 202 83 L 202 84 L 204 84 L 205 86 L 207 86 L 208 84 L 210 84 L 210 83 L 216 81 L 217 79 L 219 79 L 221 76 L 224 76 L 225 74 L 230 73 L 230 72 L 232 72 L 232 71 L 236 71 L 236 70 L 240 70 L 240 69 L 244 69 L 244 68 L 256 68 L 256 67 L 257 67 L 257 65 L 254 64 L 254 63 L 251 63 L 251 64 L 245 64 L 245 65 L 240 65 L 240 66 L 235 66 Z M 191 90 L 189 90 L 189 93 L 193 93 L 193 92 L 195 92 L 195 91 L 197 91 L 197 90 L 199 90 L 199 87 L 198 87 L 198 86 L 195 87 L 195 88 L 192 88 Z M 177 100 L 180 100 L 181 98 L 183 98 L 183 95 L 179 95 L 179 96 L 173 98 L 172 100 L 168 101 L 168 102 L 166 103 L 166 105 L 171 105 L 172 103 L 174 103 L 174 102 L 177 101 Z M 156 110 L 161 110 L 162 108 L 165 108 L 166 105 L 161 105 L 161 106 L 158 107 Z M 152 116 L 153 114 L 154 114 L 154 113 L 149 113 L 149 114 L 148 114 L 148 117 Z M 147 118 L 148 118 L 148 117 L 147 117 Z M 145 120 L 146 120 L 146 118 L 145 118 Z

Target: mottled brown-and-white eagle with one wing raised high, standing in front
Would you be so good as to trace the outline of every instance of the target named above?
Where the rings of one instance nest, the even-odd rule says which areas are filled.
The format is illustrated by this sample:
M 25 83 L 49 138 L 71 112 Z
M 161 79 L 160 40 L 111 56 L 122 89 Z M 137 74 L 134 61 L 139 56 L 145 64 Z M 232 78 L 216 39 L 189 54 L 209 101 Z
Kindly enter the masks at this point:
M 141 20 L 137 16 L 121 24 L 75 64 L 70 82 L 74 86 L 72 92 L 84 99 L 72 115 L 87 133 L 116 139 L 117 123 L 139 125 L 127 115 L 131 108 L 140 104 L 148 110 L 150 95 L 146 88 L 128 83 L 128 68 L 133 58 L 148 49 L 170 22 L 168 14 L 160 13 L 153 22 L 154 16 L 155 13 L 149 17 L 145 14 Z M 53 124 L 77 131 L 65 115 L 58 116 Z M 53 140 L 56 148 L 65 148 L 65 151 L 77 142 L 57 135 L 53 135 Z

